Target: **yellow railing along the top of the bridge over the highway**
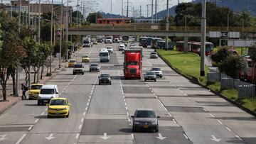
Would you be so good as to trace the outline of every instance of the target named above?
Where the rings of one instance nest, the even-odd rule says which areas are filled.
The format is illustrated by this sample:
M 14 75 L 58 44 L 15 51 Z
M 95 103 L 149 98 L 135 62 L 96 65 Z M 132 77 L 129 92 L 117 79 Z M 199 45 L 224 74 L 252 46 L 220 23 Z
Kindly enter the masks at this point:
M 70 30 L 100 30 L 100 31 L 166 31 L 166 26 L 153 26 L 151 24 L 94 24 L 85 26 L 70 26 Z M 238 31 L 256 32 L 255 27 L 206 27 L 206 31 Z M 169 31 L 201 31 L 200 26 L 169 26 Z

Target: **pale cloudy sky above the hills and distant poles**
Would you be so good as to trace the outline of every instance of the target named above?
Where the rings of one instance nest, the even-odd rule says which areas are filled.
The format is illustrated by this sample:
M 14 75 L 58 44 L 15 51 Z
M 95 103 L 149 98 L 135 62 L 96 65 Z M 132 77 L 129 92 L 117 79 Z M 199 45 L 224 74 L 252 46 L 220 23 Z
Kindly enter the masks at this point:
M 65 1 L 65 0 L 64 0 Z M 81 1 L 81 0 L 79 0 Z M 82 0 L 82 1 L 92 1 L 92 0 Z M 112 13 L 122 14 L 122 0 L 94 0 L 99 3 L 95 11 L 103 11 L 105 13 L 110 13 L 111 11 L 111 1 L 112 1 Z M 149 16 L 151 16 L 151 0 L 128 0 L 129 1 L 129 16 L 132 16 L 132 9 L 139 10 L 139 6 L 142 6 L 142 16 L 147 16 L 147 4 L 149 4 Z M 189 2 L 192 0 L 179 0 L 180 2 Z M 76 5 L 77 0 L 73 0 L 73 5 Z M 157 11 L 162 11 L 166 9 L 166 0 L 157 0 L 158 6 Z M 85 3 L 86 4 L 86 3 Z M 124 16 L 126 16 L 127 11 L 127 0 L 123 0 L 124 4 Z M 154 0 L 155 4 L 155 0 Z M 178 0 L 169 0 L 169 7 L 178 4 Z

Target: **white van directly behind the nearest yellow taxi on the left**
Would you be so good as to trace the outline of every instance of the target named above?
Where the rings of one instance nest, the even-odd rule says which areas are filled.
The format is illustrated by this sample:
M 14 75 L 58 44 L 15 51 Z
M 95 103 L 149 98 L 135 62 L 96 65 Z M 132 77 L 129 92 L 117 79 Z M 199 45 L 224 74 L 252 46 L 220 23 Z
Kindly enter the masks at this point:
M 48 104 L 50 99 L 58 98 L 58 86 L 57 85 L 43 85 L 40 94 L 38 95 L 38 105 Z

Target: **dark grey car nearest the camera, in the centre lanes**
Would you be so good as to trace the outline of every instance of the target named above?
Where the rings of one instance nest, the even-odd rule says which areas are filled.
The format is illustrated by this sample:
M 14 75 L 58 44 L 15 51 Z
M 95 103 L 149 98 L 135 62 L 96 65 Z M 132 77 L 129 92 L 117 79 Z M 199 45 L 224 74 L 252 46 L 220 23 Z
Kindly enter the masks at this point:
M 153 109 L 137 109 L 134 113 L 134 116 L 131 117 L 133 118 L 132 131 L 159 131 L 158 118 L 160 118 L 160 116 L 156 116 Z

